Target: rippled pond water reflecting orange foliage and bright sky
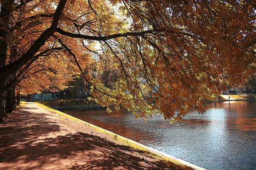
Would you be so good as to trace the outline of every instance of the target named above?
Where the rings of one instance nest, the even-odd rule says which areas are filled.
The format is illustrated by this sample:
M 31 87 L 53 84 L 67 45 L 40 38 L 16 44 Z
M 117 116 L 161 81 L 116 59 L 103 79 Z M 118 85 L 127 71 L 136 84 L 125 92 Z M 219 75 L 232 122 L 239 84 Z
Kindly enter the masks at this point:
M 86 122 L 212 170 L 256 170 L 256 102 L 212 102 L 180 123 L 134 119 L 121 109 L 60 109 Z

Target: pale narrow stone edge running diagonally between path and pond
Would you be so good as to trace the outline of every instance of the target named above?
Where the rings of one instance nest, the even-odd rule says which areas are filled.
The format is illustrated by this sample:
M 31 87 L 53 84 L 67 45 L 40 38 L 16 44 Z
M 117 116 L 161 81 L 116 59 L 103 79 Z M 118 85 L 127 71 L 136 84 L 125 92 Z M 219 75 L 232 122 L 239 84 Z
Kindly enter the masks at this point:
M 35 103 L 36 103 L 36 102 L 35 102 Z M 188 167 L 192 167 L 192 168 L 194 168 L 195 170 L 206 170 L 206 169 L 204 169 L 204 168 L 202 168 L 202 167 L 199 167 L 199 166 L 197 166 L 197 165 L 191 164 L 191 163 L 189 163 L 189 162 L 187 162 L 187 161 L 183 161 L 182 159 L 178 159 L 178 158 L 176 158 L 175 156 L 171 156 L 171 155 L 169 155 L 169 154 L 160 152 L 159 150 L 155 150 L 155 149 L 153 149 L 153 148 L 151 148 L 151 147 L 147 147 L 147 146 L 145 146 L 145 145 L 143 145 L 143 144 L 140 144 L 140 143 L 138 143 L 138 142 L 135 142 L 135 141 L 133 141 L 133 140 L 131 140 L 131 139 L 127 139 L 127 138 L 125 138 L 125 137 L 123 137 L 123 136 L 120 136 L 120 135 L 118 135 L 118 134 L 116 134 L 116 133 L 113 133 L 113 132 L 111 132 L 111 131 L 109 131 L 109 130 L 105 130 L 105 129 L 101 128 L 101 127 L 98 127 L 98 126 L 96 126 L 96 125 L 90 124 L 90 123 L 88 123 L 88 122 L 85 122 L 85 121 L 83 121 L 83 120 L 81 120 L 81 119 L 78 119 L 78 118 L 76 118 L 76 117 L 70 116 L 70 115 L 68 115 L 68 114 L 66 114 L 66 113 L 63 113 L 63 112 L 61 112 L 61 111 L 55 110 L 54 108 L 49 108 L 49 107 L 47 107 L 47 106 L 45 106 L 45 105 L 43 105 L 43 104 L 41 104 L 41 103 L 36 103 L 36 104 L 39 105 L 39 106 L 41 106 L 41 107 L 43 107 L 43 108 L 50 109 L 50 110 L 54 111 L 55 113 L 58 113 L 58 114 L 61 114 L 61 115 L 70 117 L 70 118 L 72 118 L 74 121 L 78 121 L 78 122 L 85 123 L 85 124 L 87 124 L 87 125 L 90 125 L 91 127 L 96 127 L 96 128 L 98 128 L 98 129 L 100 129 L 100 130 L 103 130 L 103 131 L 105 131 L 105 132 L 107 132 L 107 133 L 110 133 L 110 134 L 112 134 L 112 135 L 118 136 L 118 137 L 120 137 L 120 138 L 122 138 L 122 139 L 125 139 L 125 140 L 129 141 L 129 142 L 132 142 L 132 143 L 137 144 L 137 145 L 139 145 L 139 146 L 141 146 L 141 147 L 144 147 L 144 148 L 150 150 L 152 153 L 156 153 L 156 154 L 158 154 L 158 155 L 160 155 L 160 156 L 165 156 L 165 157 L 167 157 L 167 158 L 169 158 L 169 159 L 173 159 L 173 160 L 175 160 L 175 161 L 180 162 L 180 163 L 183 164 L 183 165 L 186 165 L 186 166 L 188 166 Z

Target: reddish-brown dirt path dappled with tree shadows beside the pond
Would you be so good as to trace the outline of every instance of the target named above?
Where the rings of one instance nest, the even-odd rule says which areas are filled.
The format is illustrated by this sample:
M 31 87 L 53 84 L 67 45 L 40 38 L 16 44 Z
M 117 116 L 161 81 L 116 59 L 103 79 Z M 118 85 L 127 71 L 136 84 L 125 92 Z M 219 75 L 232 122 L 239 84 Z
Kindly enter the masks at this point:
M 143 161 L 143 159 L 147 161 Z M 0 124 L 0 170 L 172 169 L 113 137 L 34 103 Z

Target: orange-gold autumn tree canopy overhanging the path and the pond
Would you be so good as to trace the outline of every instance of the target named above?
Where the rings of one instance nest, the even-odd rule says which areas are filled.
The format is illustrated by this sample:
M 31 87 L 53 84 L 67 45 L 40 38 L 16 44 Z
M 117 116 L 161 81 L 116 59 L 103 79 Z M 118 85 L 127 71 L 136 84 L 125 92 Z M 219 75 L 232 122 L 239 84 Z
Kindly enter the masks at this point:
M 204 99 L 255 72 L 255 8 L 254 0 L 1 0 L 0 88 L 36 72 L 54 82 L 80 71 L 91 99 L 137 118 L 203 113 Z M 84 71 L 93 53 L 100 76 Z

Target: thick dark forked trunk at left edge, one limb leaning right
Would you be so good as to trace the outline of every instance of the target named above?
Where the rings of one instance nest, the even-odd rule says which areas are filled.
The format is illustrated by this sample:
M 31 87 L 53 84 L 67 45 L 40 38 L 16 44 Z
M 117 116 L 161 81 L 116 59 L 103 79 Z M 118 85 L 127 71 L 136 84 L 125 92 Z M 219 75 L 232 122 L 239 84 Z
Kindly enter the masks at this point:
M 51 37 L 58 26 L 58 21 L 61 17 L 61 13 L 65 7 L 67 0 L 60 0 L 58 3 L 58 7 L 56 8 L 55 14 L 53 16 L 52 24 L 49 28 L 47 28 L 37 40 L 29 47 L 29 49 L 20 56 L 19 59 L 15 60 L 15 62 L 11 62 L 6 65 L 6 52 L 7 52 L 7 40 L 6 40 L 6 31 L 0 29 L 0 122 L 3 122 L 3 116 L 5 115 L 3 106 L 3 94 L 4 88 L 6 86 L 6 80 L 16 72 L 19 68 L 23 67 L 23 65 L 28 64 L 28 62 L 35 57 L 35 54 L 39 51 L 41 46 L 45 44 L 47 39 Z M 9 17 L 10 11 L 12 7 L 12 1 L 5 0 L 1 1 L 1 11 L 0 11 L 0 25 L 2 27 L 9 27 Z M 10 41 L 10 40 L 8 40 Z M 8 102 L 6 102 L 8 103 Z M 10 103 L 10 102 L 9 102 Z

